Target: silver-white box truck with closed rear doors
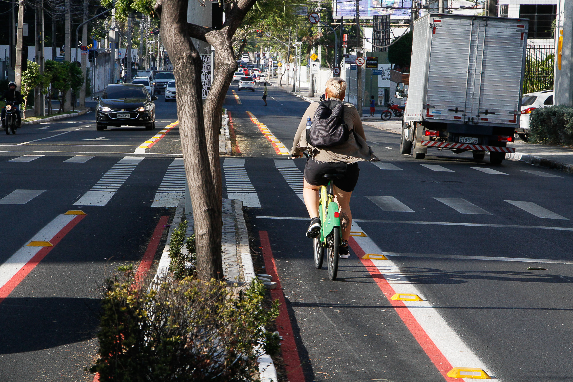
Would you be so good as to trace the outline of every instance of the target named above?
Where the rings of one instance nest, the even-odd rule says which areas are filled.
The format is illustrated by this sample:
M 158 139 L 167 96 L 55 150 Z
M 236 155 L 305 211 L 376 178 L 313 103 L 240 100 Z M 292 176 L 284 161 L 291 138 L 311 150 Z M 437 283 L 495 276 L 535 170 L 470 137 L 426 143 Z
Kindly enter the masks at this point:
M 428 14 L 414 22 L 400 151 L 489 151 L 499 164 L 519 128 L 528 20 Z M 403 84 L 396 88 L 404 96 Z

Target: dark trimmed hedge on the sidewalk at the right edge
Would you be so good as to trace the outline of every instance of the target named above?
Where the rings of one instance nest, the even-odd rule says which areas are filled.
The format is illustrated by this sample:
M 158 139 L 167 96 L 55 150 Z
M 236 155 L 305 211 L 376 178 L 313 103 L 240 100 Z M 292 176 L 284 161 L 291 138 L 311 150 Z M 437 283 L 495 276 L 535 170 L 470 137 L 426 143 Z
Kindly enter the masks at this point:
M 541 107 L 529 118 L 532 143 L 573 145 L 573 108 L 564 105 Z

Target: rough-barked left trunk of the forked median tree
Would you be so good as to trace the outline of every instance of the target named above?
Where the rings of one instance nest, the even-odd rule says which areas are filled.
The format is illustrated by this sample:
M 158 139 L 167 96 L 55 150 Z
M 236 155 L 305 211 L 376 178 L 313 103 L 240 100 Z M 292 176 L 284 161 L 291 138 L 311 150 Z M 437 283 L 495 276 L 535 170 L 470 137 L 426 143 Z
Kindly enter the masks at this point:
M 213 141 L 215 131 L 211 121 L 211 125 L 207 128 L 210 136 L 206 138 L 201 99 L 202 63 L 187 31 L 188 2 L 189 0 L 169 0 L 160 5 L 161 33 L 163 44 L 173 64 L 173 73 L 180 95 L 177 100 L 177 115 L 183 161 L 193 204 L 197 271 L 202 280 L 222 279 L 221 201 L 211 173 L 209 151 L 212 147 L 207 150 L 207 141 Z M 219 167 L 218 147 L 216 151 L 217 167 Z

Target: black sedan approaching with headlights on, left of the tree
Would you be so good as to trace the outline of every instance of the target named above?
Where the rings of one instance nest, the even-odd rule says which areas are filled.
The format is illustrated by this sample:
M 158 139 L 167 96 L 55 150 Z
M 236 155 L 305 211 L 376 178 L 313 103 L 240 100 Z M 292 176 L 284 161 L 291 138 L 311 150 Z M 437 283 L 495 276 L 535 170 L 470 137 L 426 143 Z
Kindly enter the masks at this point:
M 155 96 L 140 84 L 110 84 L 97 100 L 96 127 L 145 126 L 155 128 Z

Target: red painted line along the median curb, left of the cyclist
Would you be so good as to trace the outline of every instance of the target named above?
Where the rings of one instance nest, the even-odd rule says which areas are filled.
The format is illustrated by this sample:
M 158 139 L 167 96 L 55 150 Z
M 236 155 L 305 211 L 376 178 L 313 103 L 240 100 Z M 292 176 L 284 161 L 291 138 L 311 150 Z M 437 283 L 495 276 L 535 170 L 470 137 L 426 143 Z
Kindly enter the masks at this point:
M 278 278 L 277 266 L 274 263 L 273 252 L 270 249 L 269 234 L 266 231 L 258 231 L 261 238 L 262 256 L 265 259 L 265 270 L 269 275 L 273 276 L 273 280 L 277 283 L 276 289 L 270 290 L 270 295 L 273 299 L 278 299 L 280 306 L 278 307 L 279 314 L 277 317 L 277 330 L 282 336 L 282 359 L 285 361 L 286 376 L 289 382 L 304 382 L 303 368 L 301 367 L 299 349 L 296 347 L 295 337 L 292 331 L 291 319 L 288 317 L 286 311 L 286 301 L 280 279 Z

